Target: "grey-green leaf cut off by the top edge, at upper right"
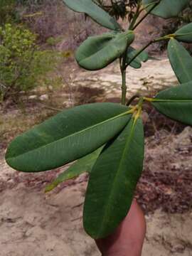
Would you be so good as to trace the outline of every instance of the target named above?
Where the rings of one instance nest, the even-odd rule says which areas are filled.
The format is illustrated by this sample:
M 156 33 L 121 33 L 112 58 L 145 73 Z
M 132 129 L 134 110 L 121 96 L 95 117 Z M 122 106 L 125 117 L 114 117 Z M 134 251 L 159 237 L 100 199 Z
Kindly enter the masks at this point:
M 143 0 L 142 4 L 147 10 L 151 9 L 152 4 L 156 4 L 158 0 Z M 161 0 L 159 5 L 151 11 L 151 14 L 161 18 L 173 18 L 186 8 L 190 0 Z M 149 6 L 149 4 L 151 4 Z

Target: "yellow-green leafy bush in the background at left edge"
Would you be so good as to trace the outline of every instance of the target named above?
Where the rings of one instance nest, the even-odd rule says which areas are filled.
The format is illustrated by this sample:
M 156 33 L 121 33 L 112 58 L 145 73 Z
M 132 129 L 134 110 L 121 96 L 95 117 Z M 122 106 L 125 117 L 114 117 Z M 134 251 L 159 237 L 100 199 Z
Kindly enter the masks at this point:
M 39 50 L 36 35 L 22 26 L 0 27 L 1 100 L 36 87 L 42 75 L 57 62 L 53 51 Z

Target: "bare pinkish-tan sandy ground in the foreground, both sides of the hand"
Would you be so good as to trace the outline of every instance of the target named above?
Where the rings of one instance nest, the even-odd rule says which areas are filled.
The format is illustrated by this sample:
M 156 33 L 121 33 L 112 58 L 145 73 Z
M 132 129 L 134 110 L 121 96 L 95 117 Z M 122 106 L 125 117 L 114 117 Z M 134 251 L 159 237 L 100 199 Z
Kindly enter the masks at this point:
M 43 186 L 23 183 L 1 191 L 0 255 L 99 256 L 95 242 L 82 229 L 86 185 L 83 181 L 47 195 Z M 192 211 L 156 210 L 146 215 L 146 222 L 143 256 L 192 255 Z

